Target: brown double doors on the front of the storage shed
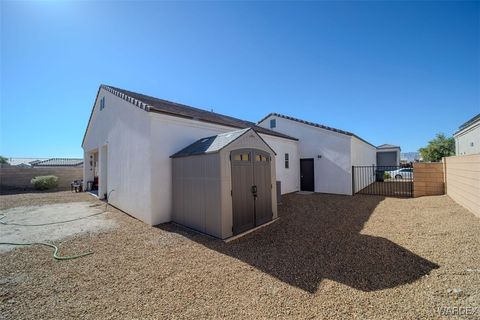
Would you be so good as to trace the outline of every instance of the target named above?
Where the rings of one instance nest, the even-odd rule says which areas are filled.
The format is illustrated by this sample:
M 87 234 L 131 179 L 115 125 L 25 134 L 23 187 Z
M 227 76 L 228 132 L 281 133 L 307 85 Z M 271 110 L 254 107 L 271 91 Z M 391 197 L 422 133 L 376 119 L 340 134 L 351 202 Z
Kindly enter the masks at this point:
M 233 234 L 272 220 L 270 155 L 256 149 L 231 152 Z

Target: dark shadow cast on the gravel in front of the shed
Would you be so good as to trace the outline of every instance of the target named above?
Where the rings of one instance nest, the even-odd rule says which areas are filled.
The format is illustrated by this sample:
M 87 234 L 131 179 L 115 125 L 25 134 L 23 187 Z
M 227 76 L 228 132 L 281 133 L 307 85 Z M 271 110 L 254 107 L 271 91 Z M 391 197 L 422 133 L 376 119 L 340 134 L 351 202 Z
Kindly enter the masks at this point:
M 158 227 L 310 293 L 317 290 L 322 279 L 375 291 L 414 282 L 439 267 L 390 240 L 360 234 L 383 199 L 362 195 L 284 196 L 278 207 L 279 221 L 230 243 L 174 224 Z

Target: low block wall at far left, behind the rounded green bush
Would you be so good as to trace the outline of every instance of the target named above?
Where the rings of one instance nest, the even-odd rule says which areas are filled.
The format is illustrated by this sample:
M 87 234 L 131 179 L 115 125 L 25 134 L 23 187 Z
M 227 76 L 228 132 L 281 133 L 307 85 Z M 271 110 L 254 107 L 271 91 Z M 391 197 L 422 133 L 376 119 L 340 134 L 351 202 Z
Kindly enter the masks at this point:
M 69 190 L 73 180 L 83 179 L 83 167 L 19 168 L 2 166 L 0 168 L 0 191 L 33 189 L 30 184 L 32 178 L 48 175 L 58 177 L 58 190 Z

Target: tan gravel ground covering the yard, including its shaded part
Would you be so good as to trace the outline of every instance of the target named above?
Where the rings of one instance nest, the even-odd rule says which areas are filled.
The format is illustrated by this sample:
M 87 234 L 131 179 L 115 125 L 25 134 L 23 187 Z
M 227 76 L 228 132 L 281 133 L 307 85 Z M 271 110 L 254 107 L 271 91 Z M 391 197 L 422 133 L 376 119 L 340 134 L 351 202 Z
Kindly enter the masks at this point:
M 480 219 L 447 196 L 289 195 L 277 222 L 228 244 L 112 211 L 117 228 L 62 244 L 91 256 L 0 255 L 0 315 L 439 319 L 480 307 Z

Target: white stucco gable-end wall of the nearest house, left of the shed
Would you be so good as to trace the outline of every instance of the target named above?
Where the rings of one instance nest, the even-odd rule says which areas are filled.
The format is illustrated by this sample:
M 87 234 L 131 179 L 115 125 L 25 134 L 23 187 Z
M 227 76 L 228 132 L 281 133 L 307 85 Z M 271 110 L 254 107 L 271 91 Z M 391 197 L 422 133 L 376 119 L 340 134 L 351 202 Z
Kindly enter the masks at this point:
M 99 110 L 105 97 L 105 108 Z M 144 110 L 101 89 L 83 149 L 85 181 L 91 180 L 88 152 L 108 146 L 106 170 L 109 202 L 128 214 L 152 224 L 150 120 Z M 99 173 L 100 176 L 104 176 Z M 100 180 L 100 184 L 102 181 Z M 102 188 L 102 187 L 101 187 Z

